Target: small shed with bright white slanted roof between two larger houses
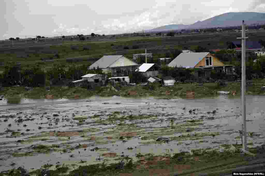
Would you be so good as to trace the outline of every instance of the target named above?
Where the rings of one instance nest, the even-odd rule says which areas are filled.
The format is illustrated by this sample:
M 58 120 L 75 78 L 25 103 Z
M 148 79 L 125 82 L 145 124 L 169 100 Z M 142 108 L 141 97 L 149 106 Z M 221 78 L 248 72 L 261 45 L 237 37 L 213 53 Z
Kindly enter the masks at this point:
M 156 77 L 159 73 L 160 66 L 157 64 L 143 63 L 136 71 L 142 72 L 145 77 Z

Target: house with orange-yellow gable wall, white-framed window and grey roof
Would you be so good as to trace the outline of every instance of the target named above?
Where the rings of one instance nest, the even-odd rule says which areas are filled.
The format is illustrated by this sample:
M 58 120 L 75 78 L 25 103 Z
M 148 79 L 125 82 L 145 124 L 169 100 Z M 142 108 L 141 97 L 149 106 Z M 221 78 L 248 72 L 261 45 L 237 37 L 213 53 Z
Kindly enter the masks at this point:
M 168 66 L 194 68 L 195 77 L 209 78 L 211 71 L 224 72 L 233 74 L 233 65 L 225 65 L 213 54 L 208 52 L 202 53 L 181 53 Z

